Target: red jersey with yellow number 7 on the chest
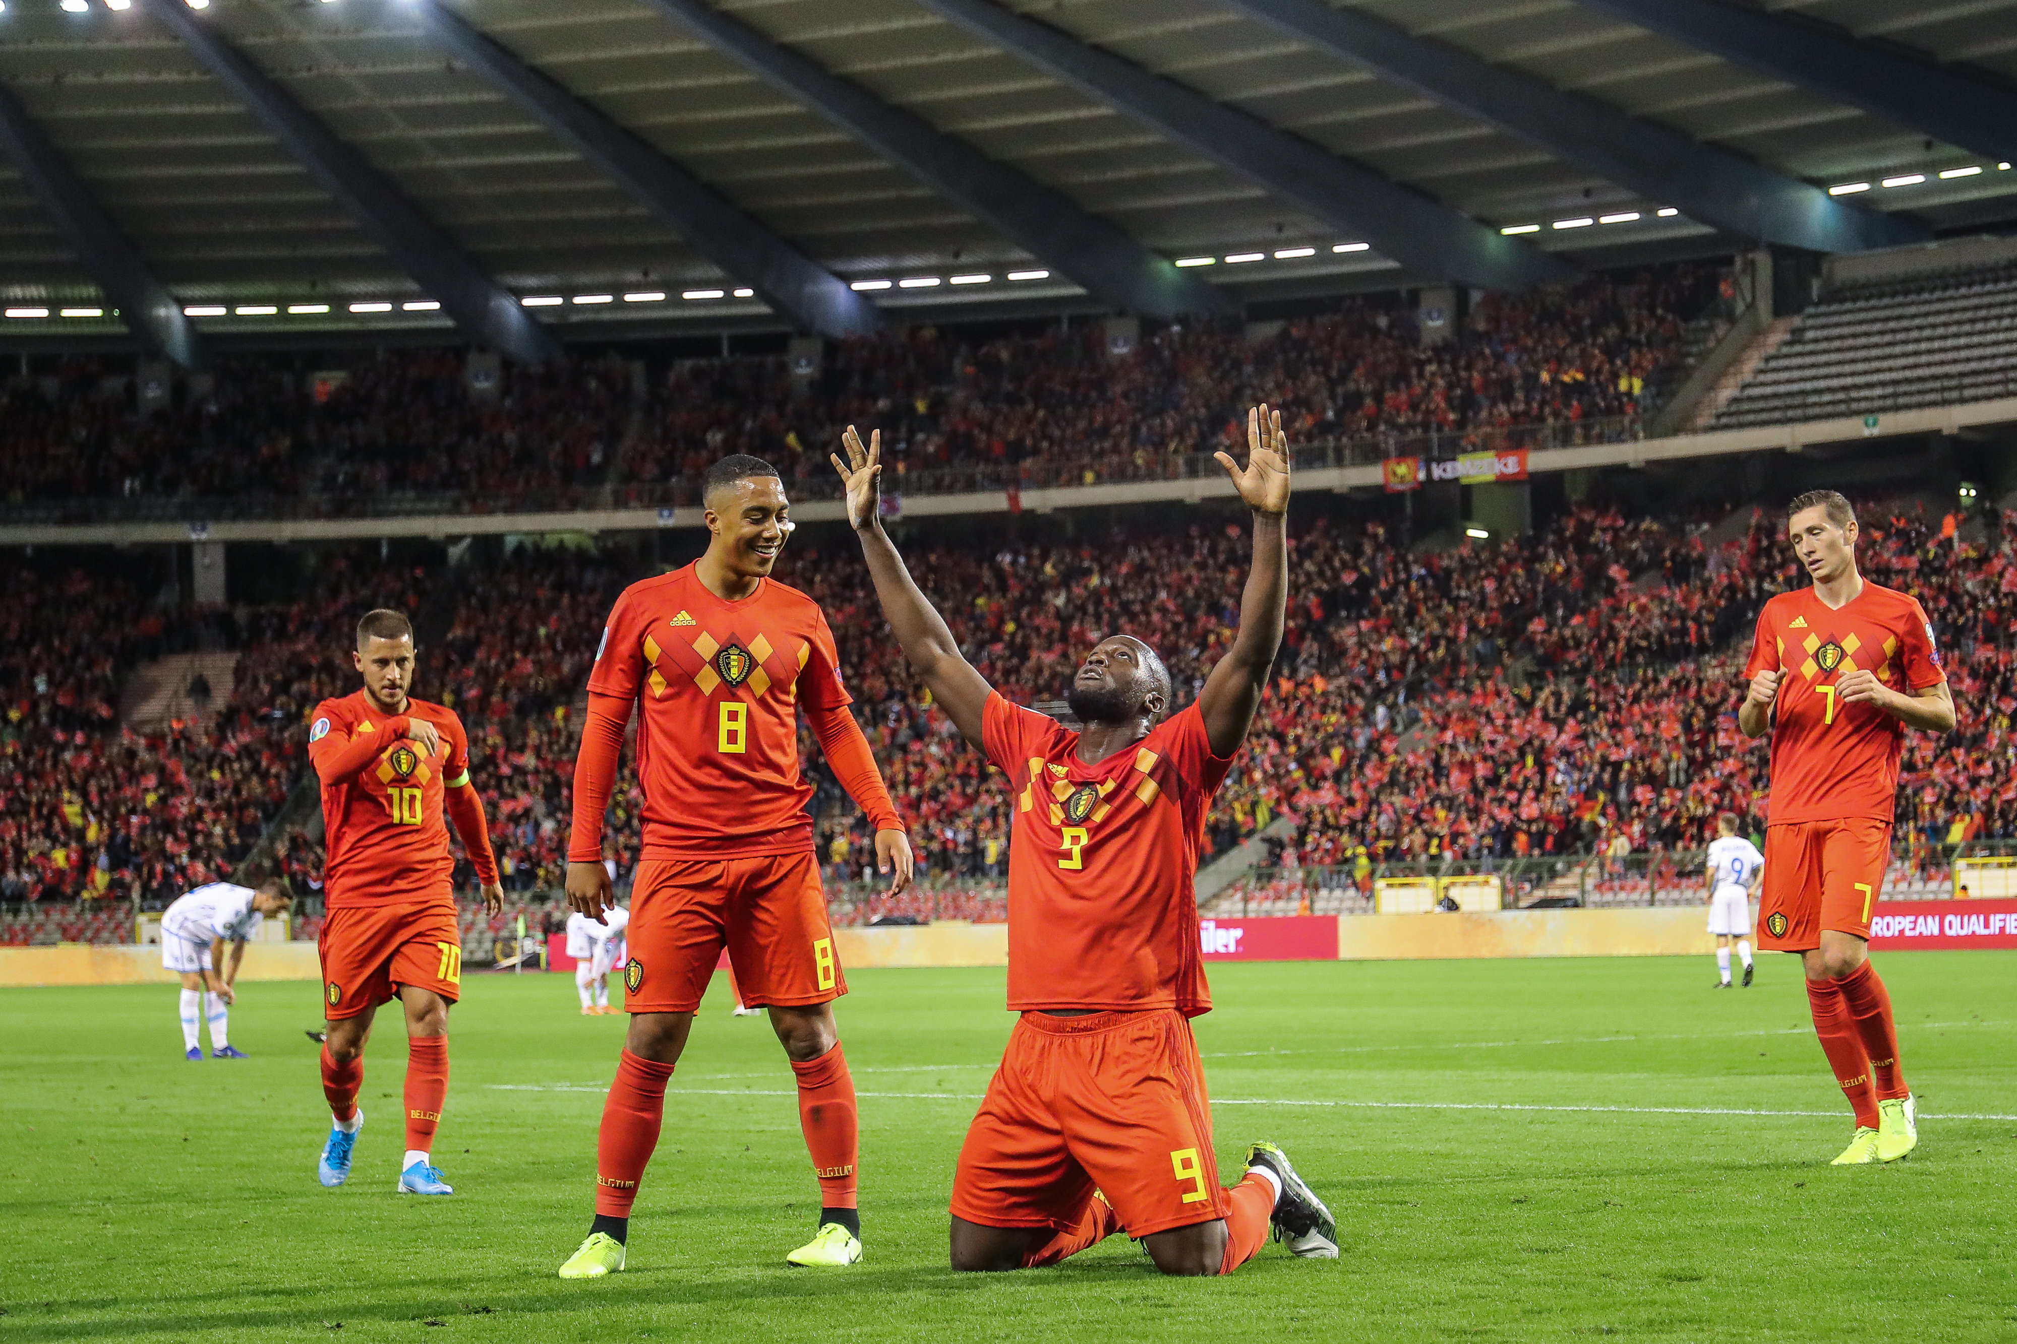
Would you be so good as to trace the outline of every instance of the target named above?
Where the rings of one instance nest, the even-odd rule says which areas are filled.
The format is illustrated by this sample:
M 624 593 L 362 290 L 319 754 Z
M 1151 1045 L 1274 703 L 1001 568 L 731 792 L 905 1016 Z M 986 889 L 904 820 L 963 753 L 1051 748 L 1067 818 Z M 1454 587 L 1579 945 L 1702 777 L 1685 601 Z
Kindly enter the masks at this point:
M 1946 681 L 1918 600 L 1870 580 L 1840 609 L 1811 586 L 1781 592 L 1759 613 L 1745 679 L 1775 667 L 1785 677 L 1773 701 L 1769 820 L 1892 820 L 1904 723 L 1842 703 L 1835 683 L 1858 669 L 1906 695 Z

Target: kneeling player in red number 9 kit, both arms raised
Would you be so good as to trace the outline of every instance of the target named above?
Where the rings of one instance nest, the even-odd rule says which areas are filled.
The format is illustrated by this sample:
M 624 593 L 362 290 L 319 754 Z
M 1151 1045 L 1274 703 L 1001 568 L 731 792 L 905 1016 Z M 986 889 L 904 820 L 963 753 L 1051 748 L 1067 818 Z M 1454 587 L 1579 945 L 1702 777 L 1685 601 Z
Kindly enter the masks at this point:
M 1164 1273 L 1228 1273 L 1269 1229 L 1335 1257 L 1329 1209 L 1281 1149 L 1247 1151 L 1218 1185 L 1204 1066 L 1190 1018 L 1210 1012 L 1196 870 L 1212 794 L 1247 737 L 1281 647 L 1289 445 L 1281 415 L 1247 417 L 1249 459 L 1218 453 L 1253 510 L 1240 629 L 1194 705 L 1170 673 L 1107 635 L 1067 701 L 1083 721 L 1011 705 L 904 568 L 877 518 L 881 437 L 853 427 L 833 457 L 847 518 L 904 657 L 968 744 L 1008 776 L 1008 1036 L 952 1181 L 952 1267 L 1049 1265 L 1128 1231 Z

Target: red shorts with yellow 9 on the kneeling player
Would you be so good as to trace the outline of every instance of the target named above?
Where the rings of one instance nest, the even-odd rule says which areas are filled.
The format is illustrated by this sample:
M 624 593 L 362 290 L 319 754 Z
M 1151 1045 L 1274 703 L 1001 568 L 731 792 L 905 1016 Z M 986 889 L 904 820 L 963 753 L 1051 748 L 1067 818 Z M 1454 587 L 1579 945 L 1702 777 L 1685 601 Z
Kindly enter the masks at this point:
M 1065 1229 L 1095 1189 L 1130 1237 L 1226 1215 L 1182 1014 L 1023 1014 L 960 1147 L 952 1217 Z

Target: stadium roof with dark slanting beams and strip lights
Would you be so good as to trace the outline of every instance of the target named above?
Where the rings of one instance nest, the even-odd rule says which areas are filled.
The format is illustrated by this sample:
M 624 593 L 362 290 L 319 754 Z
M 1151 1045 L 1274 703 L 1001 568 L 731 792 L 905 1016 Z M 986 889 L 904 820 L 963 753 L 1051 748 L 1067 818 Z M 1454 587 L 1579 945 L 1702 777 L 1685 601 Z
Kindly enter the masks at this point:
M 0 300 L 48 316 L 0 341 L 537 355 L 2017 220 L 2017 0 L 198 4 L 4 0 Z

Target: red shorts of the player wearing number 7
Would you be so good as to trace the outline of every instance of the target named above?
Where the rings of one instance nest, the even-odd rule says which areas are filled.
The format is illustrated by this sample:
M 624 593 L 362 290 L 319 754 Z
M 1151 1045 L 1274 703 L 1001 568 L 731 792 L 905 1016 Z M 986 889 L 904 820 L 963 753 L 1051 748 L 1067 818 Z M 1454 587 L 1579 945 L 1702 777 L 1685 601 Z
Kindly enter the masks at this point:
M 1767 826 L 1759 947 L 1811 951 L 1821 929 L 1868 941 L 1888 866 L 1890 822 L 1848 816 Z

